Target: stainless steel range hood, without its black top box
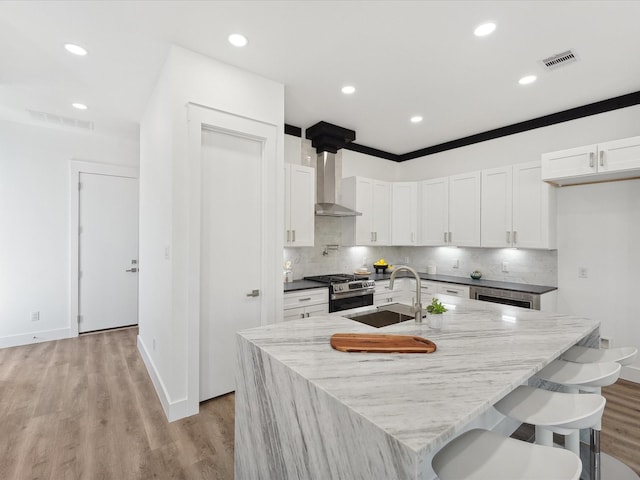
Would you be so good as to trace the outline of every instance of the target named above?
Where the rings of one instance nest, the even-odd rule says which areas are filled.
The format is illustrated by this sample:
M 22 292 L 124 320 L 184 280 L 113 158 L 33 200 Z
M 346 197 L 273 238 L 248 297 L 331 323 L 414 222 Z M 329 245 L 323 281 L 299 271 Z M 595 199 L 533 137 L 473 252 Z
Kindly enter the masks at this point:
M 316 215 L 324 217 L 356 217 L 362 215 L 350 208 L 338 204 L 342 169 L 336 161 L 336 154 L 331 152 L 318 153 L 316 165 Z

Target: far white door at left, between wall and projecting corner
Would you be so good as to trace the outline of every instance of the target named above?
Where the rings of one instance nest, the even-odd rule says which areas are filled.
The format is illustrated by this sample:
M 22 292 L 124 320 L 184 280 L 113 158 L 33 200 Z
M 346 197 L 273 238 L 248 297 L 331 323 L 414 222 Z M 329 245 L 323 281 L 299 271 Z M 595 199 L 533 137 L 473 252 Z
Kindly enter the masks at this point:
M 138 180 L 80 173 L 80 185 L 78 331 L 135 325 Z

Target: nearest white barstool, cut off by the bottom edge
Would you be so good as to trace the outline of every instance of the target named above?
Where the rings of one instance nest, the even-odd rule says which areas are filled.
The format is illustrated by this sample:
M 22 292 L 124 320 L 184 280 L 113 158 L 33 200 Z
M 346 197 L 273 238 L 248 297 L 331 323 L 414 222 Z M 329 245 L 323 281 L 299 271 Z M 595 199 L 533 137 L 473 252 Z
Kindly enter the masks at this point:
M 441 480 L 578 480 L 582 462 L 560 448 L 523 442 L 488 430 L 469 430 L 431 462 Z

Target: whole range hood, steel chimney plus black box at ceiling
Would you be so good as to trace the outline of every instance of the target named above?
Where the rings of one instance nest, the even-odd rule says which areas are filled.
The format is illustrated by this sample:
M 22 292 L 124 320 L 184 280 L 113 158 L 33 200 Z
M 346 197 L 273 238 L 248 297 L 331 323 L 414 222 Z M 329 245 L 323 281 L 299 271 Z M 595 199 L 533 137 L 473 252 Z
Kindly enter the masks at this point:
M 356 138 L 356 132 L 327 122 L 307 128 L 305 136 L 318 153 L 316 165 L 316 215 L 325 217 L 355 217 L 362 215 L 338 204 L 342 184 L 342 168 L 336 153 Z

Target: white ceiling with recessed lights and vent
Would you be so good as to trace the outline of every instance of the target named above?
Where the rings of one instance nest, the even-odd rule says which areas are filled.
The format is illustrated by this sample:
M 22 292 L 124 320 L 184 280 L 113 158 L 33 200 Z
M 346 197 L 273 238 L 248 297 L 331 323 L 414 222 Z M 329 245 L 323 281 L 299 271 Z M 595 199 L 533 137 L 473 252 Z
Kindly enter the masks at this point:
M 401 154 L 639 91 L 638 19 L 640 1 L 0 1 L 0 116 L 137 135 L 173 43 L 284 83 L 286 123 Z M 486 21 L 494 34 L 475 37 Z M 578 62 L 544 71 L 570 48 Z

